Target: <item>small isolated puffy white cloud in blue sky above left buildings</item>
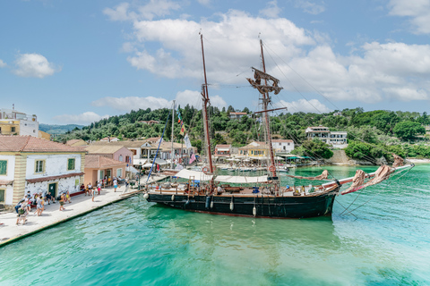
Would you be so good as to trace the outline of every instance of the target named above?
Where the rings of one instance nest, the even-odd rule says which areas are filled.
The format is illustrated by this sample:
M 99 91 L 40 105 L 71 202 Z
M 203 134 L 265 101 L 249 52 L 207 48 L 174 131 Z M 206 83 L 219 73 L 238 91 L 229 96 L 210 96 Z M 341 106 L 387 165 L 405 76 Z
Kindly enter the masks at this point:
M 56 68 L 53 63 L 47 62 L 47 58 L 39 54 L 22 54 L 15 61 L 16 75 L 25 78 L 43 79 L 48 75 L 53 75 L 61 69 Z

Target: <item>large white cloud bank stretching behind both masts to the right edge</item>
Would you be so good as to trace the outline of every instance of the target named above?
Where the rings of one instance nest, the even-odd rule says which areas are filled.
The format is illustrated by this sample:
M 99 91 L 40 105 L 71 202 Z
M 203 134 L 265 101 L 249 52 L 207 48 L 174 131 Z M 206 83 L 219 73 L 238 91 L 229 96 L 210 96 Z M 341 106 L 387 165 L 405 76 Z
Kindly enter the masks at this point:
M 345 56 L 333 52 L 329 36 L 301 29 L 285 18 L 230 10 L 211 19 L 133 21 L 134 38 L 128 39 L 133 45 L 125 44 L 131 53 L 127 61 L 160 77 L 202 80 L 202 30 L 209 83 L 243 85 L 245 76 L 251 76 L 250 66 L 260 65 L 258 31 L 264 31 L 266 69 L 286 91 L 317 90 L 330 100 L 366 103 L 430 99 L 429 45 L 373 42 L 350 46 Z

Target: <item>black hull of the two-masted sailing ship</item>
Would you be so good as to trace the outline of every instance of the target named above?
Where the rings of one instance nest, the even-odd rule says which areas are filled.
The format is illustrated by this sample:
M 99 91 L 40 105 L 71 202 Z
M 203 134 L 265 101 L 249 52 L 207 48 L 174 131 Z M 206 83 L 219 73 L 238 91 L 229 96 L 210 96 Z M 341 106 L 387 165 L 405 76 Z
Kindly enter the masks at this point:
M 149 192 L 147 200 L 187 211 L 268 218 L 306 218 L 331 214 L 339 189 L 313 196 L 194 196 Z

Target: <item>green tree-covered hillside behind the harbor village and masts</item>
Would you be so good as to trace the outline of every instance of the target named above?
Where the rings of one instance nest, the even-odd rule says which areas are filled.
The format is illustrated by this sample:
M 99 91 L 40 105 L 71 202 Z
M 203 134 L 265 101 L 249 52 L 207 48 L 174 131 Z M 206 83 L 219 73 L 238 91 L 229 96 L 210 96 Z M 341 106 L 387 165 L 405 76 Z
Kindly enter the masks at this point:
M 193 106 L 186 105 L 179 108 L 185 129 L 189 132 L 193 146 L 202 147 L 203 128 L 202 111 Z M 239 120 L 230 119 L 230 112 L 235 110 L 233 106 L 219 110 L 217 107 L 209 109 L 211 137 L 215 144 L 231 143 L 240 147 L 252 140 L 263 140 L 264 131 L 262 115 L 250 113 Z M 426 146 L 425 126 L 430 124 L 430 118 L 426 113 L 392 112 L 376 110 L 364 112 L 362 108 L 344 109 L 341 115 L 335 116 L 335 111 L 329 114 L 271 114 L 271 132 L 273 137 L 281 139 L 293 139 L 297 145 L 305 141 L 305 129 L 308 126 L 323 125 L 331 130 L 348 131 L 349 147 L 347 155 L 354 158 L 365 156 L 390 157 L 390 152 L 400 156 L 430 156 L 430 148 Z M 132 111 L 129 114 L 112 116 L 107 119 L 93 122 L 82 129 L 75 128 L 67 132 L 60 139 L 84 139 L 99 140 L 111 136 L 119 139 L 140 139 L 160 136 L 166 126 L 165 138 L 171 135 L 171 111 L 167 108 Z M 142 121 L 155 120 L 159 123 L 149 125 Z M 174 135 L 176 140 L 182 136 L 179 134 L 177 113 L 175 118 Z M 317 146 L 315 144 L 314 146 Z M 299 150 L 299 149 L 298 149 Z

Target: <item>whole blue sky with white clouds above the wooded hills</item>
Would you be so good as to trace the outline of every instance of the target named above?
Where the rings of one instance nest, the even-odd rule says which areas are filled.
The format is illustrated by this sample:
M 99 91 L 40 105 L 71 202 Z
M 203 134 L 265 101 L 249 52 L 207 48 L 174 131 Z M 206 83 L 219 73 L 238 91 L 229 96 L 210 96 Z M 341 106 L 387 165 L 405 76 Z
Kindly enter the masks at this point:
M 139 108 L 429 112 L 430 0 L 2 0 L 0 108 L 89 124 Z M 285 112 L 285 111 L 284 111 Z

